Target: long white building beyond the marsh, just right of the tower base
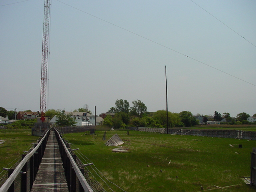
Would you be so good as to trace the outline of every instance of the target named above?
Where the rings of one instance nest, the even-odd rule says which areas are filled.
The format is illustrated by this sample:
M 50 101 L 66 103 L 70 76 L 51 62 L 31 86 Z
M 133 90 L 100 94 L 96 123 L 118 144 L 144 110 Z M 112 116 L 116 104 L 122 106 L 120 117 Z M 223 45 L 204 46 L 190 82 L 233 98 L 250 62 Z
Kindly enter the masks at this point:
M 74 118 L 76 122 L 76 126 L 90 126 L 90 125 L 95 125 L 95 119 L 96 119 L 96 125 L 100 125 L 103 121 L 101 117 L 91 115 L 89 113 L 84 113 L 84 112 L 65 112 L 63 111 L 64 114 L 68 115 L 71 114 L 71 116 Z M 56 123 L 57 116 L 55 115 L 51 120 L 50 123 L 54 124 Z

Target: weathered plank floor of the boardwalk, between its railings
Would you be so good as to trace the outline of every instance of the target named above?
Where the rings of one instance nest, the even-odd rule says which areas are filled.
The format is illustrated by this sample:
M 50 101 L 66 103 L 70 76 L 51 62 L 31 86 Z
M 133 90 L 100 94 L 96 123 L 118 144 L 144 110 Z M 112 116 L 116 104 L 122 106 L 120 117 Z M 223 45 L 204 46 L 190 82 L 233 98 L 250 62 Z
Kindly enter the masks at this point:
M 54 132 L 50 132 L 46 149 L 31 192 L 68 192 L 68 184 Z

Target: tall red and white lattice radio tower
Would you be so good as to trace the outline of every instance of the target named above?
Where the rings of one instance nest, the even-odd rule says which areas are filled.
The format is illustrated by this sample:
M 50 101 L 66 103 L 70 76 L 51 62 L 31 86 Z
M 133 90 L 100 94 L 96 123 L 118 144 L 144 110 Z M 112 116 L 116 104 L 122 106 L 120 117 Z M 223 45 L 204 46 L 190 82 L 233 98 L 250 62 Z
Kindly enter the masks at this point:
M 41 97 L 40 110 L 41 120 L 44 122 L 44 113 L 46 110 L 46 84 L 47 84 L 47 60 L 48 60 L 48 40 L 50 25 L 50 0 L 44 0 L 44 30 L 42 46 L 42 68 L 41 68 Z

